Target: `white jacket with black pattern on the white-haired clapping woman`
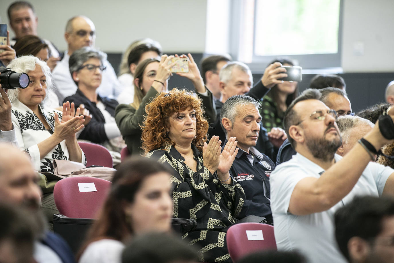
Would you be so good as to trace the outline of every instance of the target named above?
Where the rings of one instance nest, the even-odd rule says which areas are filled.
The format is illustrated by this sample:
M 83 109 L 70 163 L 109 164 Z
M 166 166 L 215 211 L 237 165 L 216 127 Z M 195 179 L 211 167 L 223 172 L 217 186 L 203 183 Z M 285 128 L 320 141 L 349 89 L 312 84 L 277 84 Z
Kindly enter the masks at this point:
M 43 159 L 40 159 L 40 151 L 37 144 L 46 140 L 53 134 L 55 130 L 54 113 L 57 112 L 59 114 L 59 120 L 61 120 L 62 113 L 54 109 L 41 108 L 41 106 L 39 106 L 39 110 L 46 119 L 50 127 L 49 130 L 46 130 L 37 115 L 20 101 L 16 101 L 12 104 L 12 123 L 15 127 L 19 147 L 30 155 L 34 169 L 41 172 L 53 172 L 53 160 L 69 159 L 69 151 L 65 141 L 63 140 L 56 145 L 56 147 L 54 147 L 54 149 Z M 86 158 L 83 152 L 82 163 L 86 165 Z

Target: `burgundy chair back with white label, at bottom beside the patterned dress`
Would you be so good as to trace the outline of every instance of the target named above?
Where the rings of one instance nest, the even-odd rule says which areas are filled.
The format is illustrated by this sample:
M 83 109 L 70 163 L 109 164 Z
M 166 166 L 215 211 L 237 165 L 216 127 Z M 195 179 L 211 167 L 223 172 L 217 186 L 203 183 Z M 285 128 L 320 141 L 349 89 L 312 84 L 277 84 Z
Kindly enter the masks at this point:
M 251 231 L 249 237 L 247 231 Z M 227 230 L 226 241 L 230 257 L 235 263 L 255 251 L 277 250 L 273 226 L 268 224 L 235 224 Z

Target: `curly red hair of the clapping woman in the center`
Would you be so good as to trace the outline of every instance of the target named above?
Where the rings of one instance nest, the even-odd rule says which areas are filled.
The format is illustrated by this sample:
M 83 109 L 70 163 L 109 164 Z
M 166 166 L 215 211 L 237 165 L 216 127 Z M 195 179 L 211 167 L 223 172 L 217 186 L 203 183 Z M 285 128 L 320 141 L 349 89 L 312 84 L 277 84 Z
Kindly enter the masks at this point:
M 142 149 L 147 154 L 149 151 L 160 148 L 166 142 L 175 145 L 168 136 L 166 127 L 169 127 L 169 117 L 182 110 L 193 108 L 196 116 L 196 136 L 192 143 L 200 151 L 206 142 L 208 132 L 208 121 L 203 116 L 201 99 L 198 95 L 187 90 L 173 88 L 169 93 L 162 92 L 153 101 L 145 106 L 147 116 L 142 128 Z

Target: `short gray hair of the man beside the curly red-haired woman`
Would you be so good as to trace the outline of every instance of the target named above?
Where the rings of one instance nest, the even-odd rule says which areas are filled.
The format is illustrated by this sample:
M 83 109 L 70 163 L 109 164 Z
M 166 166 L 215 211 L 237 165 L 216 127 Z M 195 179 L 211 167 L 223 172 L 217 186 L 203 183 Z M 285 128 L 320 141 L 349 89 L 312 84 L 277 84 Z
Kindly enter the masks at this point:
M 220 111 L 220 126 L 222 127 L 224 133 L 227 136 L 227 130 L 223 127 L 223 123 L 221 120 L 223 118 L 227 118 L 231 121 L 231 124 L 234 126 L 235 116 L 238 114 L 236 108 L 238 106 L 245 106 L 245 105 L 253 105 L 256 108 L 260 107 L 260 103 L 249 97 L 248 95 L 235 95 L 227 99 L 227 101 L 223 104 L 221 111 Z

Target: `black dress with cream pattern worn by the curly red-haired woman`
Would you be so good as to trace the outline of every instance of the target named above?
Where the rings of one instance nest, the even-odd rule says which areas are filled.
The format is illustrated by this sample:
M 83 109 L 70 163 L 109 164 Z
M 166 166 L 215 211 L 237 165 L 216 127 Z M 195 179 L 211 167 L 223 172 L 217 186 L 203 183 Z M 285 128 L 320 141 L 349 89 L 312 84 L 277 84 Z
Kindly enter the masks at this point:
M 222 184 L 216 173 L 212 175 L 203 164 L 203 154 L 191 144 L 197 172 L 193 172 L 184 158 L 171 144 L 147 154 L 160 163 L 169 164 L 174 172 L 173 216 L 191 218 L 197 221 L 197 228 L 183 235 L 189 244 L 200 250 L 203 262 L 232 262 L 226 244 L 226 233 L 221 229 L 234 222 L 242 208 L 245 193 L 234 180 L 232 184 Z

